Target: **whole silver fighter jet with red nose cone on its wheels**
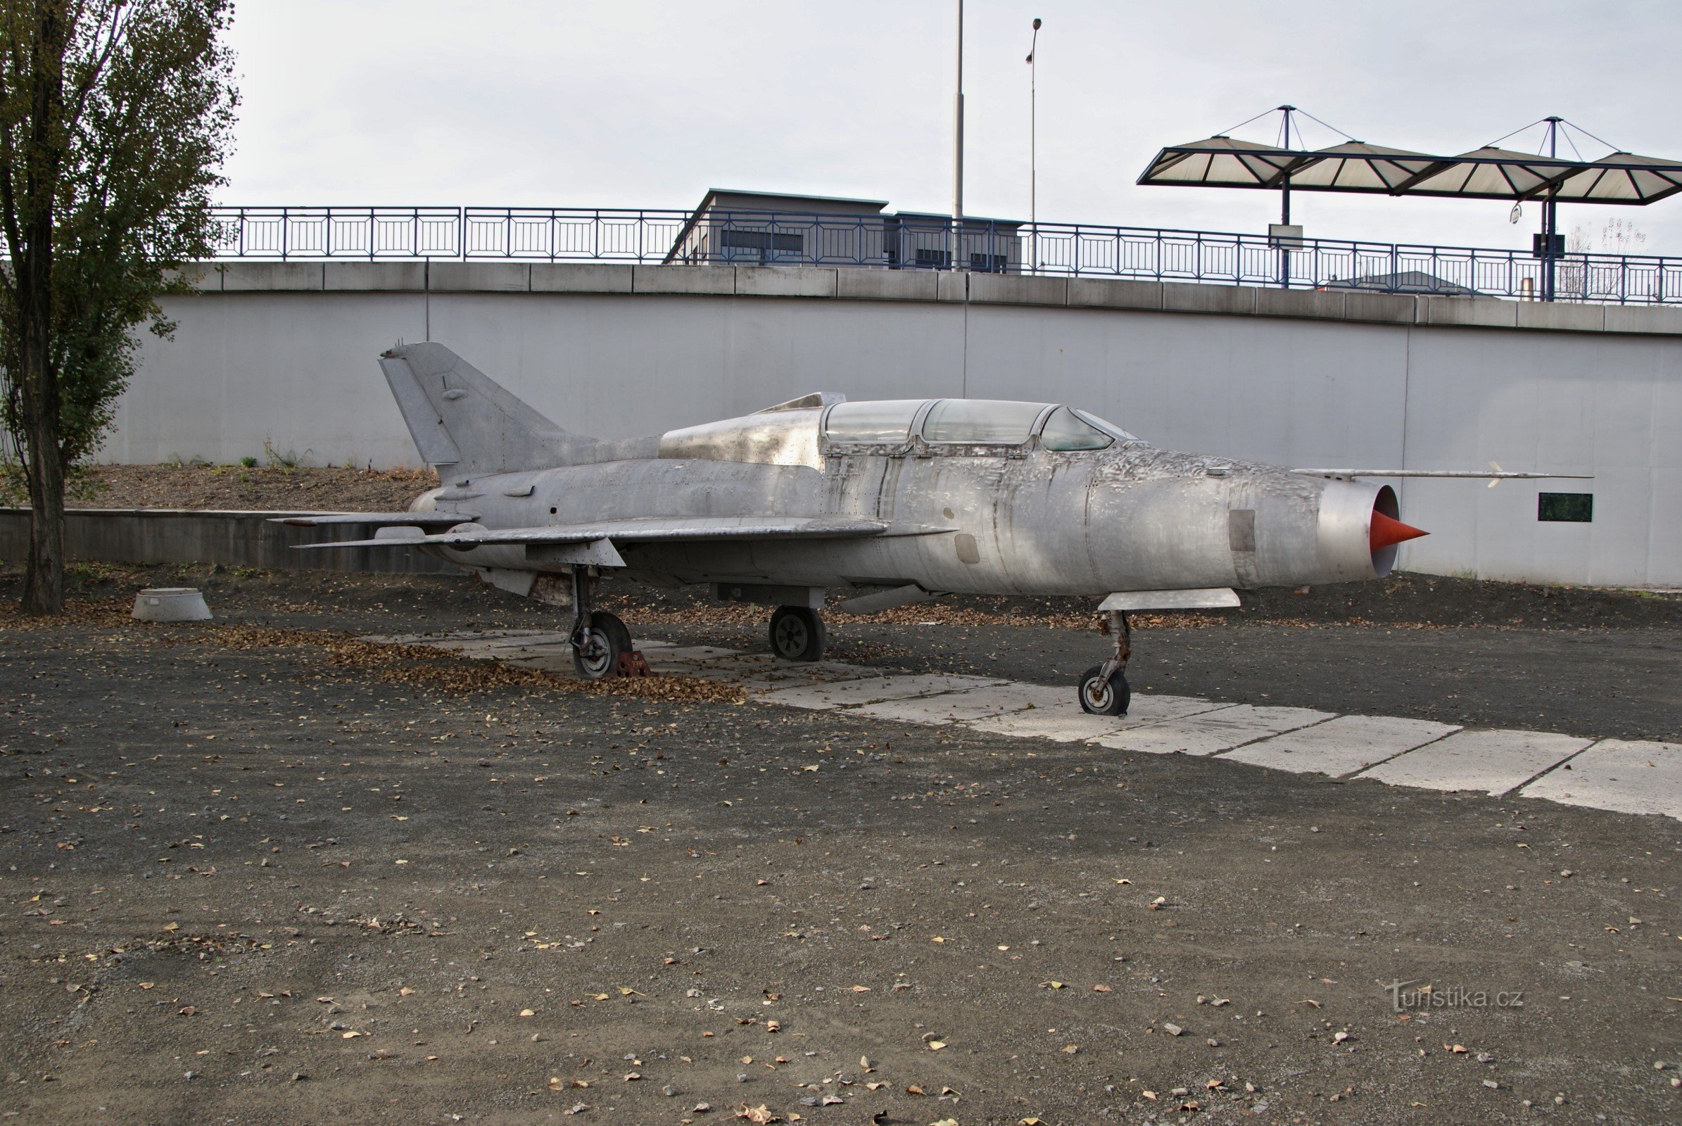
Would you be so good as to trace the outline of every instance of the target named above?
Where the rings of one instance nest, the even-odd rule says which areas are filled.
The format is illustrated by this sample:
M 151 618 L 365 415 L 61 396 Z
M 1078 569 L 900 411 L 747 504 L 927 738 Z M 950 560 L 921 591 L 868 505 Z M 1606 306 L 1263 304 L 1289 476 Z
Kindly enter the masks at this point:
M 774 606 L 770 646 L 824 653 L 828 591 L 846 613 L 942 594 L 1103 601 L 1113 651 L 1080 677 L 1087 712 L 1127 712 L 1127 613 L 1238 606 L 1236 589 L 1379 579 L 1401 522 L 1383 470 L 1287 470 L 1157 449 L 1070 406 L 992 399 L 846 402 L 821 392 L 754 414 L 600 441 L 563 431 L 441 343 L 380 357 L 442 481 L 409 512 L 291 517 L 377 525 L 515 594 L 572 608 L 587 678 L 634 661 L 594 609 L 599 579 L 711 584 Z M 1420 475 L 1441 476 L 1440 471 Z M 1547 476 L 1452 473 L 1453 476 Z

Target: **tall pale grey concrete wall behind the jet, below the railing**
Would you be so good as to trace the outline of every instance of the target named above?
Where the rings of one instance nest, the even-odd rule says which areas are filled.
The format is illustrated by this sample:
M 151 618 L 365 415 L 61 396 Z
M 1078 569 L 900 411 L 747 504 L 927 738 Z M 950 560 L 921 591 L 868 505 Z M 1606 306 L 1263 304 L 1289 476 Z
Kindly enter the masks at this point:
M 148 337 L 103 458 L 414 465 L 375 357 L 441 340 L 569 429 L 651 434 L 807 390 L 1085 406 L 1292 466 L 1410 481 L 1403 566 L 1682 586 L 1682 310 L 886 269 L 230 264 Z M 1537 491 L 1593 491 L 1539 523 Z

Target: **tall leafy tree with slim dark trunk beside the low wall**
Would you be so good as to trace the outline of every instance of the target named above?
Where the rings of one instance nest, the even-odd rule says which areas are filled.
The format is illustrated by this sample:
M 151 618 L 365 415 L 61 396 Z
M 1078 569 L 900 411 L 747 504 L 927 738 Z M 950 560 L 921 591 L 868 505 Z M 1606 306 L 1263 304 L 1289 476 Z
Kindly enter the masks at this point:
M 232 146 L 230 0 L 0 0 L 0 419 L 30 503 L 24 609 L 64 604 L 64 480 L 158 298 L 209 256 Z

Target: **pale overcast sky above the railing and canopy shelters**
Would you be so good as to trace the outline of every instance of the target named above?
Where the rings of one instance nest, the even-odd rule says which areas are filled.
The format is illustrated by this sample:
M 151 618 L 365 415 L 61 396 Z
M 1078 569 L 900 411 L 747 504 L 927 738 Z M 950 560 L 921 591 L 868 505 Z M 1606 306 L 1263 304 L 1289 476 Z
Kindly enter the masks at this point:
M 229 204 L 693 207 L 708 187 L 952 200 L 954 0 L 241 0 Z M 1278 195 L 1135 187 L 1162 145 L 1292 103 L 1457 153 L 1546 114 L 1682 158 L 1682 3 L 971 0 L 965 210 L 1265 231 Z M 1305 141 L 1341 140 L 1305 123 Z M 1273 143 L 1277 114 L 1238 136 Z M 1541 128 L 1505 146 L 1534 151 Z M 1584 141 L 1579 138 L 1579 145 Z M 1593 146 L 1584 157 L 1606 150 Z M 1509 204 L 1299 192 L 1320 237 L 1529 247 Z M 1566 207 L 1682 252 L 1682 197 Z

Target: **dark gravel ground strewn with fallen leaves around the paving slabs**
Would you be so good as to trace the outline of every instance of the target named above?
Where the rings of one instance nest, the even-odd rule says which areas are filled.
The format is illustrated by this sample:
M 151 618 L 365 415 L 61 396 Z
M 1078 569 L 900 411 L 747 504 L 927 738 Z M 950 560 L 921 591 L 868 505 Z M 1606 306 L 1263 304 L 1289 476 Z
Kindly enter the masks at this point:
M 557 621 L 471 581 L 79 577 L 67 621 L 0 619 L 19 1121 L 1682 1114 L 1675 821 L 345 640 Z M 219 621 L 130 623 L 161 579 Z M 636 594 L 641 636 L 759 643 L 757 611 Z M 1102 653 L 1053 628 L 1078 611 L 834 641 L 1060 682 Z M 1663 599 L 1404 579 L 1140 624 L 1140 688 L 1677 729 Z

